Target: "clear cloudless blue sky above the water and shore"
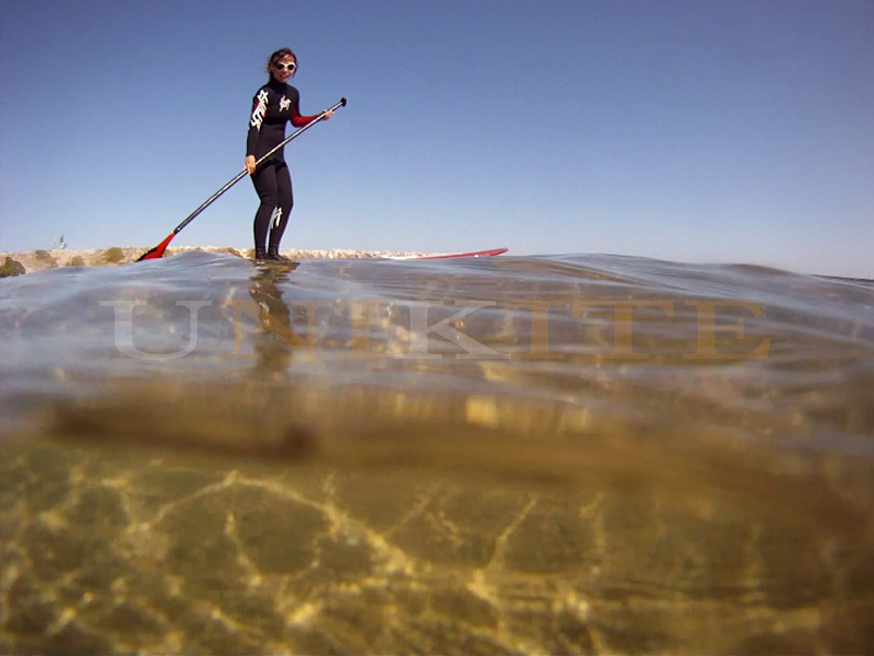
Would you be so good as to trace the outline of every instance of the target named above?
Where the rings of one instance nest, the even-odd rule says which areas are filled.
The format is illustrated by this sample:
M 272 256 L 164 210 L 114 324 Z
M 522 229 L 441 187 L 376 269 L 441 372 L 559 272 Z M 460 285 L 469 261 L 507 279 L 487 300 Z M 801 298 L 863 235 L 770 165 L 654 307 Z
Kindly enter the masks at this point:
M 870 0 L 0 0 L 0 250 L 150 247 L 302 110 L 284 248 L 613 253 L 874 278 Z M 248 179 L 174 245 L 251 246 Z

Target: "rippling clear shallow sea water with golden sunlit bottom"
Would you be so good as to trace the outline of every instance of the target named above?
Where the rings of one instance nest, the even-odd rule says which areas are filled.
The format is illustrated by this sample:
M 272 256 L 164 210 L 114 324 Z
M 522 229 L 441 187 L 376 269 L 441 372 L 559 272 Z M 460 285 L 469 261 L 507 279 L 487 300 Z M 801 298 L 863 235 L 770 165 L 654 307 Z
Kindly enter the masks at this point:
M 860 653 L 874 283 L 615 256 L 0 281 L 0 648 Z

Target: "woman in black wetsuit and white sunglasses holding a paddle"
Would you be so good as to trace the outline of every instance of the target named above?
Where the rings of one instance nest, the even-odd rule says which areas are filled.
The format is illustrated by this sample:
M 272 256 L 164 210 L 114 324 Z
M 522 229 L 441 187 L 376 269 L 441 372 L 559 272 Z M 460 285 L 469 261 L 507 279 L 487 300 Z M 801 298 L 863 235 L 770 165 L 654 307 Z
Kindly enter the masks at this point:
M 297 57 L 290 48 L 282 48 L 270 56 L 267 72 L 270 80 L 252 98 L 252 115 L 249 120 L 249 134 L 246 139 L 246 172 L 251 176 L 255 190 L 261 199 L 255 214 L 255 257 L 256 259 L 285 260 L 280 255 L 280 242 L 288 215 L 294 204 L 292 176 L 285 163 L 284 148 L 262 162 L 258 169 L 256 161 L 285 139 L 285 122 L 291 120 L 296 128 L 303 128 L 320 115 L 300 116 L 300 94 L 287 82 L 297 70 Z M 330 118 L 333 112 L 326 113 Z M 272 219 L 272 221 L 271 221 Z M 264 249 L 268 232 L 270 244 Z

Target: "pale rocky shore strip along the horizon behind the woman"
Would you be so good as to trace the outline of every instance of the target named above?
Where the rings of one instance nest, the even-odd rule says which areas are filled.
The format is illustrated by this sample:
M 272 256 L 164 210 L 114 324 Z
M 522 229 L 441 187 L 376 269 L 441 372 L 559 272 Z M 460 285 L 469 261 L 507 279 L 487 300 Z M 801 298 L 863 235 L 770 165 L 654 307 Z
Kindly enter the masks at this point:
M 0 251 L 0 278 L 9 276 L 20 276 L 22 273 L 34 273 L 45 269 L 57 269 L 59 267 L 105 267 L 125 265 L 135 261 L 141 255 L 149 250 L 149 246 L 125 246 L 111 248 L 94 248 L 90 250 L 55 249 L 55 250 L 29 250 L 26 253 L 2 253 Z M 250 248 L 232 248 L 221 246 L 180 246 L 178 248 L 167 248 L 164 257 L 188 253 L 190 250 L 201 250 L 204 253 L 224 253 L 241 258 L 250 258 Z M 379 258 L 387 256 L 412 256 L 423 255 L 421 253 L 395 253 L 376 250 L 283 250 L 282 255 L 294 260 L 302 259 L 365 259 Z

